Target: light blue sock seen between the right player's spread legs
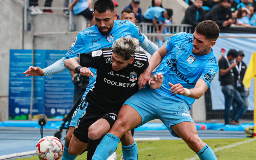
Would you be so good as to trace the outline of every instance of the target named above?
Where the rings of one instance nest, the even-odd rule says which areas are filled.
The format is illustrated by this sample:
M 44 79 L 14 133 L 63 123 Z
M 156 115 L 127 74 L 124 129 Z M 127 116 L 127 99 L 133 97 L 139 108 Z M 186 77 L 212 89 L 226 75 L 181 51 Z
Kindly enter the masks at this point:
M 123 156 L 125 160 L 138 160 L 139 159 L 139 152 L 138 152 L 138 147 L 137 143 L 133 142 L 132 145 L 130 146 L 123 146 L 122 145 L 122 150 L 123 150 Z

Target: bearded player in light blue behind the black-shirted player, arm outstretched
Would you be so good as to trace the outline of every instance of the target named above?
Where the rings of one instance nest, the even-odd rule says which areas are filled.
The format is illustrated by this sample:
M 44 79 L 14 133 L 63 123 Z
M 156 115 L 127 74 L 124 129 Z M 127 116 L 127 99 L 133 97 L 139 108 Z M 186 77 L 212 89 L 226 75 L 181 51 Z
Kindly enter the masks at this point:
M 114 4 L 111 0 L 96 1 L 93 13 L 93 18 L 96 24 L 90 28 L 84 29 L 76 36 L 67 54 L 49 67 L 41 69 L 39 67 L 30 66 L 23 74 L 27 74 L 26 76 L 47 76 L 59 73 L 67 69 L 64 67 L 65 60 L 77 57 L 77 53 L 88 53 L 101 48 L 110 47 L 116 39 L 122 36 L 131 36 L 139 39 L 140 46 L 150 54 L 153 54 L 158 49 L 154 43 L 148 40 L 148 38 L 140 32 L 136 25 L 129 20 L 116 20 L 116 17 Z M 92 73 L 96 75 L 95 69 L 90 69 Z M 76 157 L 68 155 L 70 157 L 66 158 L 66 154 L 68 154 L 69 142 L 77 120 L 85 111 L 86 93 L 92 88 L 95 82 L 95 77 L 96 76 L 89 77 L 88 87 L 86 88 L 78 108 L 73 114 L 64 145 L 64 155 L 62 156 L 62 159 L 64 158 L 64 160 L 75 159 Z

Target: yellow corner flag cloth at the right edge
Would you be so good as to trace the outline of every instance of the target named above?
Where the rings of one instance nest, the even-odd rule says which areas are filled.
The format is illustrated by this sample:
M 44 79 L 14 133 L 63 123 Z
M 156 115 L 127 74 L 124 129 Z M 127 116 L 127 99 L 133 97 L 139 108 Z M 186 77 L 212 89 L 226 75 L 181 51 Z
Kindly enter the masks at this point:
M 254 77 L 255 77 L 255 52 L 252 53 L 250 63 L 244 74 L 243 84 L 246 88 L 250 87 L 251 79 Z

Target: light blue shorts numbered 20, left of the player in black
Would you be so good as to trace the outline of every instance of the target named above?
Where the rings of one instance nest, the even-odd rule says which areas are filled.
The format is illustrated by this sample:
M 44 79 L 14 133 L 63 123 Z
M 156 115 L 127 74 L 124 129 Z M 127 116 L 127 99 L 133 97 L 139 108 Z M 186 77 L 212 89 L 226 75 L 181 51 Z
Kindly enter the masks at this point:
M 77 106 L 76 110 L 73 113 L 72 120 L 71 120 L 69 126 L 76 127 L 76 123 L 77 123 L 78 119 L 82 117 L 82 114 L 84 114 L 87 106 L 88 106 L 88 103 L 85 100 L 85 96 L 83 96 L 79 105 Z

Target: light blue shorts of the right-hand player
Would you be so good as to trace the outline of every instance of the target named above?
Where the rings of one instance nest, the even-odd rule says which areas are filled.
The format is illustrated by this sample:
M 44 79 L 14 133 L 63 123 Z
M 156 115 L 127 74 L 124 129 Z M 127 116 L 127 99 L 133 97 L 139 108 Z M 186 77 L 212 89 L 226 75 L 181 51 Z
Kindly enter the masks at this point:
M 142 122 L 138 127 L 153 119 L 160 119 L 170 133 L 178 137 L 172 132 L 172 125 L 181 122 L 194 123 L 185 100 L 157 93 L 149 87 L 135 93 L 124 104 L 131 106 L 140 114 Z

